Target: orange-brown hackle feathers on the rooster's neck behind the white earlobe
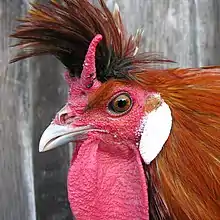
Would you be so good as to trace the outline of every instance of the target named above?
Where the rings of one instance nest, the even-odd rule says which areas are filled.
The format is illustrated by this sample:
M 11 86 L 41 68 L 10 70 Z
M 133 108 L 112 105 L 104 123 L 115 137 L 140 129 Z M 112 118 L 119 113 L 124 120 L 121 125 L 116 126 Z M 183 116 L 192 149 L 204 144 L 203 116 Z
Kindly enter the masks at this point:
M 173 116 L 171 135 L 147 168 L 153 219 L 219 219 L 220 67 L 149 70 L 135 78 L 159 92 Z

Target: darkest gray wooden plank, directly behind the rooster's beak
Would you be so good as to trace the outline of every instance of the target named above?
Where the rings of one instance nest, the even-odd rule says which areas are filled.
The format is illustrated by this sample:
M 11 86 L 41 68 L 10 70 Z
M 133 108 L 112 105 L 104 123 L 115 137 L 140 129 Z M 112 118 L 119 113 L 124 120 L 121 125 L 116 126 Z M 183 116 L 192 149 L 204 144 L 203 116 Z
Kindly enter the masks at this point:
M 37 72 L 33 79 L 33 163 L 37 219 L 72 219 L 66 193 L 68 148 L 38 152 L 42 132 L 65 103 L 64 70 L 51 57 L 34 61 L 32 68 Z

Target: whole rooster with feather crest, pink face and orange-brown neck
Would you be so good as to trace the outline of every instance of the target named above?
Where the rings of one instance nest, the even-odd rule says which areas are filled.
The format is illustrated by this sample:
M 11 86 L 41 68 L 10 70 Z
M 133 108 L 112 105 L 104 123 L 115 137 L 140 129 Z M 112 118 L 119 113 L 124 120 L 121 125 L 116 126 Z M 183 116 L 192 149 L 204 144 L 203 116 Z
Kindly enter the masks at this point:
M 67 68 L 66 105 L 39 150 L 74 142 L 68 198 L 79 220 L 220 218 L 220 68 L 139 51 L 116 5 L 33 4 L 12 62 L 51 54 Z

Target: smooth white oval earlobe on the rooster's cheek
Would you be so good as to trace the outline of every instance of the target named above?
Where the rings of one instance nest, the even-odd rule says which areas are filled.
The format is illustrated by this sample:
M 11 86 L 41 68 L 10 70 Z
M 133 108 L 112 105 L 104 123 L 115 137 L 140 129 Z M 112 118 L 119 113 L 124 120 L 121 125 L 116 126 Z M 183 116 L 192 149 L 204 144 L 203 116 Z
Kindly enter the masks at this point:
M 162 150 L 171 128 L 171 110 L 165 102 L 143 118 L 139 150 L 146 164 L 150 164 Z

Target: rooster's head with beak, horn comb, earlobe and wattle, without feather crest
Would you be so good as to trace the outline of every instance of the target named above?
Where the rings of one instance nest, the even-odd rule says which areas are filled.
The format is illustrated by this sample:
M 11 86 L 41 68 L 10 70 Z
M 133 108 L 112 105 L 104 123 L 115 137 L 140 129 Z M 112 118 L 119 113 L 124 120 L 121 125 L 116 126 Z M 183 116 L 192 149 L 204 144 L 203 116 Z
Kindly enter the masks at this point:
M 77 218 L 147 219 L 142 161 L 150 163 L 162 149 L 171 111 L 157 92 L 132 81 L 97 80 L 94 51 L 101 38 L 92 40 L 81 77 L 66 74 L 68 102 L 42 135 L 40 151 L 75 142 L 68 195 Z

